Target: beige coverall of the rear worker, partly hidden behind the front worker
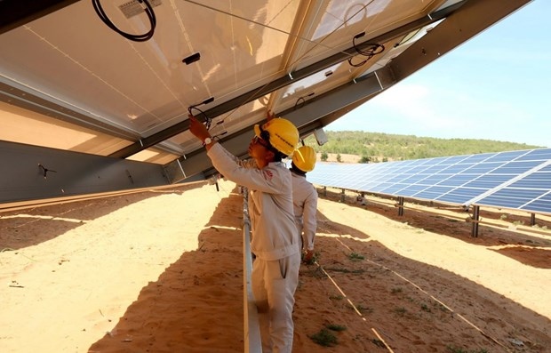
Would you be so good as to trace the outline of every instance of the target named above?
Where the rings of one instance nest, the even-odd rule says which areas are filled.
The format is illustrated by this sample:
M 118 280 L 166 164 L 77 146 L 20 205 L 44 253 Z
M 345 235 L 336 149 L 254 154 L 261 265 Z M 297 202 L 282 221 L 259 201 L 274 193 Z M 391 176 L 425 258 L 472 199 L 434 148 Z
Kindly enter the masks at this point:
M 314 251 L 315 230 L 317 221 L 317 191 L 305 175 L 291 172 L 292 175 L 292 203 L 295 215 L 295 224 L 302 237 L 302 248 Z

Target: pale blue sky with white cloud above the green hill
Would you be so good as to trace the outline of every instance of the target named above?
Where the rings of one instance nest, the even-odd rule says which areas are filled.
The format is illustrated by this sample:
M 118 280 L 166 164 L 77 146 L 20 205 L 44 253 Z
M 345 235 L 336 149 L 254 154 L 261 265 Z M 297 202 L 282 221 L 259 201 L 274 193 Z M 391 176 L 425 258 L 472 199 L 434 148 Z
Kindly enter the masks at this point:
M 533 0 L 325 130 L 551 148 L 550 14 Z

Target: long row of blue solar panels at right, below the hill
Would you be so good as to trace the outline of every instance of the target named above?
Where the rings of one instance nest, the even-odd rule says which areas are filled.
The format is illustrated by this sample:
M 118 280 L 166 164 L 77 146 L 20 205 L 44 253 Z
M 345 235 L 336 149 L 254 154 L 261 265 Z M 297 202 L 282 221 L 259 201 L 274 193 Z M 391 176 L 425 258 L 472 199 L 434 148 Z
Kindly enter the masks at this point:
M 377 164 L 318 162 L 307 180 L 453 205 L 551 213 L 551 148 Z

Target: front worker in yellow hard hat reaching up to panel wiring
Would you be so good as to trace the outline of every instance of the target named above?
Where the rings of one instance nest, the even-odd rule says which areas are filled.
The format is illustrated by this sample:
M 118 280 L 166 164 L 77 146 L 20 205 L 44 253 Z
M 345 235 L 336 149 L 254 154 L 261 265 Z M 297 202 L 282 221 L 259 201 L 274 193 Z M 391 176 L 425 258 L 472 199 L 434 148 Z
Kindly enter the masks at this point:
M 283 158 L 299 143 L 299 131 L 289 120 L 270 119 L 254 125 L 249 156 L 256 164 L 241 164 L 212 139 L 206 126 L 189 116 L 189 131 L 203 141 L 212 165 L 229 181 L 248 189 L 251 217 L 252 293 L 259 311 L 264 352 L 291 353 L 292 309 L 299 284 L 300 238 L 292 205 L 291 172 Z

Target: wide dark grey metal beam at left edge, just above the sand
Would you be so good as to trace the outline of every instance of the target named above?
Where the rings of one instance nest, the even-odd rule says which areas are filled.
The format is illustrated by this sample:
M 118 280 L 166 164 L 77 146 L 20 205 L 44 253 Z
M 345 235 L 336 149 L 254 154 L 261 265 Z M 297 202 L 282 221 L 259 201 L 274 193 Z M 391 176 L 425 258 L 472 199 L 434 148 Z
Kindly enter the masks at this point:
M 0 141 L 0 208 L 168 185 L 163 166 Z

